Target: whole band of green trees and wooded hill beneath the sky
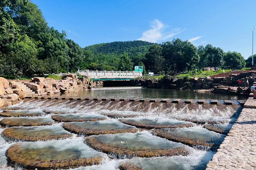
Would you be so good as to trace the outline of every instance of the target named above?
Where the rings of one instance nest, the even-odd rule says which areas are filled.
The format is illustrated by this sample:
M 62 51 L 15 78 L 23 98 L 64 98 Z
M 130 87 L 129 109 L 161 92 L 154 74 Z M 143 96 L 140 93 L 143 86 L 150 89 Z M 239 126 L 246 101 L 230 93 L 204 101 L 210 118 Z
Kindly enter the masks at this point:
M 176 74 L 204 66 L 241 69 L 251 67 L 251 56 L 221 48 L 194 46 L 174 39 L 161 44 L 146 41 L 102 43 L 81 48 L 65 31 L 49 27 L 38 6 L 30 0 L 0 1 L 0 75 L 31 76 L 77 69 L 132 71 Z M 254 57 L 256 63 L 256 56 Z

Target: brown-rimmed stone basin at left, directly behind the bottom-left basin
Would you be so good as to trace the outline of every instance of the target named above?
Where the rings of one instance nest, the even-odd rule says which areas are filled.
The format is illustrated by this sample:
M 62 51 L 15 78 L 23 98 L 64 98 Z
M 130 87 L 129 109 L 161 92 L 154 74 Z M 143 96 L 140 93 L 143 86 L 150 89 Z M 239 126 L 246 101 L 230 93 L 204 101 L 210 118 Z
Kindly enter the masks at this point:
M 48 141 L 66 139 L 72 134 L 65 131 L 59 125 L 39 126 L 39 127 L 12 127 L 5 129 L 1 136 L 8 142 L 13 141 Z

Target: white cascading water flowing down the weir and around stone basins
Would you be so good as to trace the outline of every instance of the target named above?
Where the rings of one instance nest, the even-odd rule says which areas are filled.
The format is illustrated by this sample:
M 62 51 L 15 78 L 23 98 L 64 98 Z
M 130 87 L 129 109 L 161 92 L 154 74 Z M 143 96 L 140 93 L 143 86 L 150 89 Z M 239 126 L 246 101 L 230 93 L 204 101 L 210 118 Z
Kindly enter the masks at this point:
M 98 99 L 97 101 L 93 101 L 92 99 L 85 101 L 85 100 L 61 100 L 61 99 L 25 99 L 21 103 L 17 105 L 12 105 L 10 107 L 7 107 L 8 110 L 10 109 L 20 109 L 24 110 L 24 112 L 36 112 L 36 113 L 44 113 L 42 115 L 34 115 L 31 117 L 25 116 L 25 117 L 8 117 L 9 119 L 6 120 L 7 117 L 1 118 L 0 121 L 3 122 L 6 127 L 2 126 L 0 129 L 0 133 L 3 133 L 3 131 L 11 131 L 20 136 L 25 136 L 24 139 L 28 136 L 34 136 L 37 138 L 37 141 L 34 142 L 21 142 L 22 139 L 11 139 L 10 136 L 6 137 L 4 135 L 1 135 L 0 137 L 0 169 L 18 169 L 20 170 L 21 167 L 24 167 L 24 163 L 19 162 L 18 157 L 20 156 L 17 153 L 11 154 L 10 151 L 10 159 L 16 160 L 16 162 L 11 162 L 11 164 L 7 164 L 7 157 L 5 156 L 6 150 L 10 147 L 12 147 L 11 150 L 23 150 L 22 153 L 30 154 L 30 158 L 32 159 L 42 159 L 42 160 L 49 160 L 49 159 L 55 159 L 55 160 L 63 160 L 63 159 L 79 159 L 79 158 L 87 158 L 88 156 L 96 156 L 100 157 L 99 159 L 94 159 L 91 164 L 80 164 L 76 165 L 74 162 L 74 166 L 70 166 L 70 168 L 75 170 L 117 170 L 118 167 L 122 167 L 124 165 L 130 166 L 130 164 L 134 164 L 137 167 L 145 170 L 153 170 L 153 169 L 160 169 L 160 170 L 171 170 L 171 169 L 184 169 L 184 170 L 204 170 L 206 167 L 206 164 L 208 161 L 211 160 L 213 154 L 215 152 L 208 151 L 208 148 L 203 147 L 190 147 L 184 144 L 179 143 L 178 141 L 173 142 L 168 139 L 164 139 L 159 134 L 156 134 L 154 132 L 155 129 L 147 128 L 147 129 L 137 129 L 135 126 L 130 126 L 127 124 L 123 124 L 119 121 L 119 119 L 131 119 L 131 117 L 134 117 L 133 122 L 137 122 L 140 124 L 146 124 L 146 125 L 152 125 L 152 124 L 162 124 L 163 122 L 166 122 L 167 120 L 172 120 L 172 122 L 169 122 L 171 124 L 177 124 L 181 122 L 185 122 L 183 120 L 187 119 L 191 122 L 195 123 L 201 123 L 204 124 L 204 122 L 233 122 L 236 120 L 237 116 L 240 112 L 240 106 L 239 105 L 232 105 L 232 106 L 226 106 L 223 104 L 220 105 L 210 105 L 210 104 L 204 104 L 204 105 L 198 105 L 198 104 L 184 104 L 184 103 L 150 103 L 148 101 L 145 102 L 139 102 L 139 99 L 135 99 L 134 102 L 130 102 L 129 100 L 125 101 L 119 101 L 119 99 L 115 99 L 115 101 L 102 101 L 101 99 Z M 147 100 L 147 99 L 143 99 Z M 20 112 L 20 111 L 16 111 Z M 56 114 L 57 113 L 57 114 Z M 62 114 L 60 114 L 62 113 Z M 61 119 L 65 120 L 71 120 L 65 121 L 68 123 L 62 123 L 62 120 L 53 121 L 52 117 L 59 116 Z M 108 116 L 108 117 L 107 117 Z M 127 117 L 127 118 L 125 118 Z M 23 119 L 22 119 L 23 118 Z M 25 118 L 25 119 L 24 119 Z M 98 120 L 96 122 L 86 122 L 88 125 L 84 124 L 84 122 L 76 122 L 79 118 L 86 119 L 96 119 L 96 118 L 104 118 L 105 120 Z M 143 119 L 150 119 L 150 121 L 141 122 Z M 152 120 L 151 120 L 152 119 Z M 3 121 L 4 120 L 4 121 Z M 31 121 L 27 121 L 31 120 Z M 57 120 L 57 119 L 55 119 Z M 196 120 L 196 121 L 195 121 Z M 49 122 L 47 126 L 35 126 L 40 125 L 38 122 Z M 74 121 L 74 122 L 73 122 Z M 82 120 L 83 121 L 83 120 Z M 201 121 L 201 122 L 200 122 Z M 32 122 L 32 124 L 26 124 L 27 122 Z M 134 129 L 133 133 L 127 133 L 129 131 L 118 131 L 117 134 L 107 134 L 107 135 L 92 135 L 84 138 L 83 136 L 77 136 L 77 134 L 70 133 L 69 131 L 63 129 L 63 126 L 65 124 L 75 124 L 77 127 L 75 129 L 81 129 L 85 127 L 89 127 L 92 131 L 97 130 L 94 126 L 97 122 L 106 122 L 109 123 L 108 125 L 98 126 L 98 128 L 101 128 L 101 130 L 115 130 L 115 128 L 119 127 L 122 129 L 125 129 L 129 127 L 128 129 Z M 167 121 L 168 122 L 168 121 Z M 216 136 L 214 140 L 216 140 L 217 145 L 219 145 L 222 142 L 222 139 L 219 135 L 219 133 L 213 132 L 214 130 L 207 128 L 206 126 L 209 124 L 199 125 L 194 124 L 191 122 L 185 122 L 189 123 L 189 126 L 194 126 L 190 128 L 180 128 L 180 129 L 192 129 L 189 131 L 191 136 L 186 137 L 193 137 L 196 136 L 197 133 L 202 132 L 203 134 L 206 133 L 207 137 L 211 138 Z M 15 125 L 14 125 L 15 123 Z M 46 125 L 46 124 L 45 124 Z M 97 125 L 97 124 L 96 124 Z M 8 130 L 10 126 L 14 126 L 13 129 Z M 31 127 L 22 127 L 22 126 L 31 126 Z M 185 127 L 189 127 L 185 126 Z M 216 126 L 216 125 L 212 125 Z M 113 128 L 115 127 L 115 128 Z M 218 128 L 222 129 L 230 129 L 232 127 L 232 124 L 219 124 Z M 177 128 L 177 127 L 176 127 Z M 152 130 L 151 130 L 152 129 Z M 211 131 L 209 131 L 209 130 Z M 137 132 L 139 130 L 139 132 Z M 161 130 L 161 129 L 159 129 Z M 178 131 L 178 134 L 185 135 L 185 132 L 182 130 L 176 129 Z M 41 131 L 41 132 L 40 132 Z M 9 132 L 10 133 L 10 132 Z M 78 132 L 79 133 L 79 132 Z M 3 133 L 4 134 L 4 133 Z M 44 139 L 40 140 L 40 135 L 45 136 Z M 67 139 L 64 138 L 49 138 L 46 136 L 51 135 L 69 135 L 67 136 Z M 70 136 L 71 134 L 71 136 Z M 79 133 L 82 135 L 83 133 Z M 145 138 L 141 138 L 140 135 L 142 134 Z M 115 136 L 114 136 L 115 135 Z M 133 137 L 133 135 L 136 138 Z M 157 135 L 157 136 L 156 136 Z M 184 136 L 183 136 L 184 137 Z M 197 136 L 199 137 L 199 136 Z M 220 138 L 218 138 L 220 137 Z M 58 140 L 56 140 L 58 139 Z M 84 139 L 93 139 L 90 140 L 92 142 L 89 144 L 88 141 Z M 205 138 L 201 138 L 205 139 Z M 95 140 L 95 141 L 94 141 Z M 120 151 L 124 148 L 130 149 L 131 147 L 135 148 L 136 153 L 138 154 L 144 154 L 147 155 L 146 157 L 151 157 L 149 152 L 145 152 L 147 148 L 150 148 L 150 150 L 158 149 L 160 146 L 170 147 L 169 145 L 175 144 L 177 146 L 181 146 L 181 148 L 185 148 L 184 150 L 181 150 L 179 154 L 182 152 L 186 153 L 187 156 L 178 156 L 179 154 L 165 154 L 162 153 L 162 157 L 154 157 L 154 158 L 131 158 L 129 156 L 124 156 L 124 154 L 121 154 L 117 152 L 112 152 L 108 150 L 108 152 L 102 150 L 100 148 L 100 145 L 97 145 L 97 140 L 101 143 L 104 143 L 105 149 L 106 145 L 112 147 L 117 147 L 116 151 Z M 144 140 L 144 141 L 143 141 Z M 199 139 L 197 139 L 199 140 Z M 162 142 L 162 143 L 161 143 Z M 89 146 L 87 146 L 86 144 Z M 16 144 L 16 145 L 15 145 Z M 96 147 L 97 146 L 97 147 Z M 33 148 L 33 151 L 31 150 Z M 48 149 L 46 149 L 48 148 Z M 105 152 L 105 153 L 102 153 Z M 45 153 L 45 156 L 42 157 L 42 153 Z M 55 153 L 55 154 L 53 154 Z M 175 152 L 177 153 L 177 152 Z M 153 153 L 156 154 L 156 153 Z M 119 155 L 119 156 L 117 156 Z M 121 155 L 123 155 L 122 158 L 124 159 L 117 159 Z M 133 154 L 134 155 L 134 154 Z M 167 157 L 166 157 L 167 155 Z M 173 155 L 173 156 L 170 156 Z M 27 155 L 23 155 L 27 156 Z M 110 158 L 113 159 L 110 159 Z M 97 162 L 97 160 L 100 160 L 100 162 Z M 10 161 L 10 160 L 8 160 Z M 64 163 L 64 162 L 62 162 Z M 70 162 L 69 162 L 70 163 Z M 65 163 L 64 163 L 65 164 Z M 63 164 L 63 165 L 64 165 Z M 95 164 L 95 165 L 92 165 Z M 99 164 L 99 165 L 96 165 Z M 12 166 L 10 166 L 12 165 Z M 66 165 L 66 164 L 65 164 Z M 86 166 L 90 165 L 90 166 Z M 121 165 L 121 166 L 120 166 Z M 62 166 L 62 165 L 61 165 Z M 80 166 L 80 167 L 79 167 Z M 64 168 L 64 167 L 61 167 Z M 125 166 L 123 167 L 125 169 Z

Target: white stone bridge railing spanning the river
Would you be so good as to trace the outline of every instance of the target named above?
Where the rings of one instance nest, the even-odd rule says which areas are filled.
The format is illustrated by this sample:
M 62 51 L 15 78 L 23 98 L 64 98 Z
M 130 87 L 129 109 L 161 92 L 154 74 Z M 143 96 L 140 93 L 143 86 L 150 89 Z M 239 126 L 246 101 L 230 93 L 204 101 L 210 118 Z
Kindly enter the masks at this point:
M 78 70 L 77 73 L 81 75 L 90 76 L 90 78 L 136 78 L 142 76 L 139 71 L 91 71 L 91 70 Z

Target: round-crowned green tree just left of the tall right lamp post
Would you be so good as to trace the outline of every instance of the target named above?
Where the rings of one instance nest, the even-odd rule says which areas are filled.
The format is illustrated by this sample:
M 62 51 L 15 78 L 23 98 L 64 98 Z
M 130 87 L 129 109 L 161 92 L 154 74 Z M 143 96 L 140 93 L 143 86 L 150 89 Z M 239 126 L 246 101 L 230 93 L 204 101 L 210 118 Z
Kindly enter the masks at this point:
M 245 67 L 245 59 L 238 52 L 227 52 L 224 54 L 224 67 L 227 69 L 242 69 Z

